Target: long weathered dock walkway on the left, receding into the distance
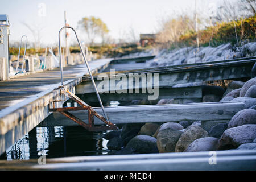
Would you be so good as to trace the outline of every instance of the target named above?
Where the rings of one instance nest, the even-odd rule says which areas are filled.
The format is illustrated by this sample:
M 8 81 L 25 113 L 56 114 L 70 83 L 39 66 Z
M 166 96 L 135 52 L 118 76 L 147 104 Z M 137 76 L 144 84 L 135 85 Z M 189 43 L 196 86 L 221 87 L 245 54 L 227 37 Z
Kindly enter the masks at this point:
M 92 72 L 108 66 L 110 60 L 91 61 Z M 75 86 L 87 72 L 84 64 L 65 67 L 65 86 L 75 93 Z M 0 154 L 51 114 L 48 106 L 52 107 L 53 100 L 64 99 L 60 90 L 55 90 L 58 86 L 61 86 L 59 69 L 0 82 L 0 105 L 4 105 L 0 110 Z M 55 105 L 61 107 L 63 103 L 56 102 Z

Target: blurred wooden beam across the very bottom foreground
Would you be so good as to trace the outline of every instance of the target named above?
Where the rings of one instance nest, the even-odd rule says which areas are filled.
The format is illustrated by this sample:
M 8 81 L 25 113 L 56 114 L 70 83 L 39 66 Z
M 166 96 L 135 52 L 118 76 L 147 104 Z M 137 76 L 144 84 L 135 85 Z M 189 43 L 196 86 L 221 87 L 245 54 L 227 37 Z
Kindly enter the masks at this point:
M 209 151 L 166 154 L 81 156 L 47 159 L 0 161 L 0 170 L 255 170 L 256 151 L 216 151 L 217 164 L 209 164 Z

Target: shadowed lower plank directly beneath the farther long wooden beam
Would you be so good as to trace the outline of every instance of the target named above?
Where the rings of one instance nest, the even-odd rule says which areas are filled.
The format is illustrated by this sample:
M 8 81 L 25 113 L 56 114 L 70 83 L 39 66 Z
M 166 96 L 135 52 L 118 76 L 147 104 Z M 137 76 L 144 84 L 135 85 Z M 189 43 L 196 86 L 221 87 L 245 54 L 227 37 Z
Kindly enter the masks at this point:
M 147 93 L 102 93 L 100 94 L 102 101 L 131 101 L 131 100 L 147 100 Z M 76 94 L 80 94 L 76 92 Z M 86 102 L 96 102 L 98 101 L 96 93 L 86 93 L 79 95 L 79 98 Z M 170 99 L 170 98 L 202 98 L 202 88 L 200 86 L 195 87 L 184 87 L 184 88 L 159 88 L 158 99 Z

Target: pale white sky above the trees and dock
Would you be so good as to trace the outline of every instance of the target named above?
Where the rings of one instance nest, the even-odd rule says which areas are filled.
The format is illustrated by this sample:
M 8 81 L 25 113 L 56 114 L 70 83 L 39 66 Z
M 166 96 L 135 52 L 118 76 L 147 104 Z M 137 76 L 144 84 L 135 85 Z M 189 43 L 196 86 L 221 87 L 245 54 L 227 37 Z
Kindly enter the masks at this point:
M 206 7 L 221 0 L 197 0 L 197 6 Z M 185 10 L 193 16 L 195 0 L 0 0 L 0 14 L 7 14 L 10 21 L 10 41 L 19 41 L 27 35 L 34 41 L 31 31 L 24 26 L 40 30 L 44 45 L 57 44 L 58 32 L 64 26 L 64 11 L 70 26 L 77 28 L 77 22 L 85 16 L 96 16 L 106 23 L 109 35 L 122 39 L 123 32 L 134 30 L 139 34 L 158 31 L 159 22 L 174 13 Z M 78 35 L 84 38 L 81 31 Z M 72 37 L 72 36 L 71 36 Z M 70 39 L 73 39 L 70 38 Z M 71 40 L 69 40 L 71 41 Z

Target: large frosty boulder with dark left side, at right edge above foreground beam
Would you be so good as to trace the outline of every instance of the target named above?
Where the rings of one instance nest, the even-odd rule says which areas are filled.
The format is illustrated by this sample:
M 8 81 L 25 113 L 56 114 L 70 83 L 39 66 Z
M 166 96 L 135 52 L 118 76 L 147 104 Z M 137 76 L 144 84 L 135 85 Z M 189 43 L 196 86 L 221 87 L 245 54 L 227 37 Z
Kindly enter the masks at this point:
M 251 143 L 256 138 L 256 125 L 232 127 L 222 134 L 218 140 L 218 150 L 237 148 L 243 143 Z

